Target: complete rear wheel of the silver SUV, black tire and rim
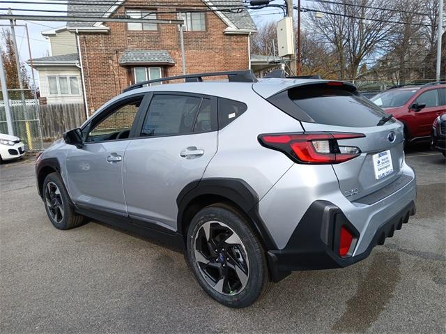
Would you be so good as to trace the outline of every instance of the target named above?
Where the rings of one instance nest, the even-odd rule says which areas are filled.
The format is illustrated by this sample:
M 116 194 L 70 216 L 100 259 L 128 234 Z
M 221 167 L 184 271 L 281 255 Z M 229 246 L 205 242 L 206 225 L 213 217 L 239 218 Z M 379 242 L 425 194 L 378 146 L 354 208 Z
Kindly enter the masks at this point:
M 203 290 L 230 308 L 252 305 L 270 285 L 259 238 L 243 215 L 225 204 L 207 206 L 194 216 L 186 258 Z

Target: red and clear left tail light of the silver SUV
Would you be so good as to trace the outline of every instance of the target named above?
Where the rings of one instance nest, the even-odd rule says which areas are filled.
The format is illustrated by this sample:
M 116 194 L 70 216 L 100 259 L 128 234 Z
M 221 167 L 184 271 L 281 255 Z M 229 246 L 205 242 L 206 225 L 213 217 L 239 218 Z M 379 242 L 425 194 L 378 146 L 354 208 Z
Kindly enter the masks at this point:
M 356 146 L 339 146 L 337 139 L 365 137 L 362 133 L 306 132 L 259 135 L 259 142 L 288 155 L 295 162 L 307 164 L 337 164 L 356 158 L 361 150 Z

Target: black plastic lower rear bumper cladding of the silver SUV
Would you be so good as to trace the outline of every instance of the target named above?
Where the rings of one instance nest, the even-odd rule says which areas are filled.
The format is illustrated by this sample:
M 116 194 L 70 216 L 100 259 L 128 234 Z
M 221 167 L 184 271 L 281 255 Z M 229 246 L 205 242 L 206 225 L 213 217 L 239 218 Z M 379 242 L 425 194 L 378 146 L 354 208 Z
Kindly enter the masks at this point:
M 415 211 L 415 202 L 410 201 L 396 214 L 381 222 L 363 252 L 357 255 L 353 253 L 351 257 L 340 257 L 336 240 L 339 229 L 342 225 L 351 229 L 355 227 L 338 206 L 328 201 L 316 201 L 300 220 L 286 247 L 268 251 L 272 280 L 282 280 L 291 271 L 341 268 L 355 264 L 368 257 L 376 245 L 383 245 L 385 238 L 392 237 L 395 230 L 401 229 L 408 222 L 409 216 L 415 215 Z M 358 242 L 355 248 L 357 245 Z

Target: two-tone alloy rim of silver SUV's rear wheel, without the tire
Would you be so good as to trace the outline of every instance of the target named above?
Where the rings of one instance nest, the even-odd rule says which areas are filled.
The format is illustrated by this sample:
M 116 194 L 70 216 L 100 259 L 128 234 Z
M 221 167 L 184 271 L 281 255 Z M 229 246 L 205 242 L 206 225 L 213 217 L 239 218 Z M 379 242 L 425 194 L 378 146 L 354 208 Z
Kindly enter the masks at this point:
M 245 289 L 249 260 L 245 245 L 223 222 L 205 222 L 195 234 L 194 257 L 203 278 L 220 294 L 233 296 Z

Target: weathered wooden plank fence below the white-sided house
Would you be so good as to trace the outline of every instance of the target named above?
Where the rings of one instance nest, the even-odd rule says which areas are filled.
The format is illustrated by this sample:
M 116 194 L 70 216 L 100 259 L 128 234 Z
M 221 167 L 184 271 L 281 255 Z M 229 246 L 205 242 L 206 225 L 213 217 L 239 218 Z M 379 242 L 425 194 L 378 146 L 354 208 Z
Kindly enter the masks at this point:
M 43 140 L 52 141 L 67 130 L 79 128 L 85 121 L 85 108 L 83 103 L 39 105 L 39 115 Z

